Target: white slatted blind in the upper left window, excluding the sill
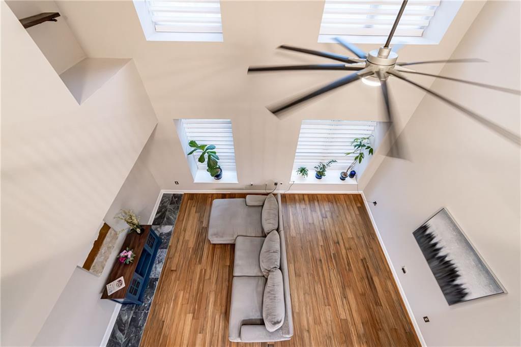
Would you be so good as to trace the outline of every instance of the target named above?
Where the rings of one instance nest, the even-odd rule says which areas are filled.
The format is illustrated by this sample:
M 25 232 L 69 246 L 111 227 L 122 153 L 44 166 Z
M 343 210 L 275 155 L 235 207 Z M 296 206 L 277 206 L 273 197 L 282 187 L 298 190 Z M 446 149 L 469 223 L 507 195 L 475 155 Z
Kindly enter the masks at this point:
M 156 32 L 222 33 L 219 1 L 146 0 Z

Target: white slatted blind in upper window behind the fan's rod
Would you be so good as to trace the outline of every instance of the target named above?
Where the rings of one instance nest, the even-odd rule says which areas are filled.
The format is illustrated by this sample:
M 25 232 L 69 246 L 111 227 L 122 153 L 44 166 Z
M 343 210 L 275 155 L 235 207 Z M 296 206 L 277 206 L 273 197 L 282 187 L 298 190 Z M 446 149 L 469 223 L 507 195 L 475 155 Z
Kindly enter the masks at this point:
M 326 0 L 320 34 L 387 36 L 401 4 L 394 0 Z M 440 0 L 410 0 L 394 35 L 422 36 L 439 5 Z

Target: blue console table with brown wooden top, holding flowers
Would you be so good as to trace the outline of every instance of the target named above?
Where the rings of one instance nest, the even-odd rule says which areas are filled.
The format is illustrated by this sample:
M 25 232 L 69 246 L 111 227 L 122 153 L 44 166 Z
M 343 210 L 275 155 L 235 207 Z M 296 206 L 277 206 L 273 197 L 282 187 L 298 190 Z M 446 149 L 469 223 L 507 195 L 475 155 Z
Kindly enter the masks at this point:
M 134 250 L 134 261 L 130 264 L 123 264 L 116 260 L 108 276 L 106 284 L 122 276 L 125 280 L 125 287 L 110 295 L 107 294 L 105 287 L 102 299 L 113 300 L 121 304 L 143 304 L 143 294 L 161 244 L 161 239 L 150 225 L 143 227 L 145 230 L 142 234 L 135 232 L 128 234 L 120 250 L 120 253 L 127 247 Z

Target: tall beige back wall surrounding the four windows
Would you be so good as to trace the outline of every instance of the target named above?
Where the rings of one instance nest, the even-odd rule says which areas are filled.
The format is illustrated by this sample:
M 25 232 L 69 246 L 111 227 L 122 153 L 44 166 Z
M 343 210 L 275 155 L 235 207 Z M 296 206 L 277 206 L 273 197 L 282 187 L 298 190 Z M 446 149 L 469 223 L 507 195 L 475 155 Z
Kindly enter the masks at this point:
M 468 1 L 439 45 L 407 46 L 402 60 L 448 58 L 482 7 Z M 324 1 L 223 1 L 224 42 L 146 41 L 132 2 L 59 2 L 62 13 L 91 57 L 132 57 L 159 119 L 145 148 L 160 188 L 241 190 L 250 182 L 283 182 L 288 188 L 303 119 L 386 120 L 381 91 L 361 82 L 346 86 L 287 116 L 265 106 L 345 75 L 342 71 L 292 71 L 247 75 L 250 65 L 331 63 L 328 59 L 276 49 L 291 44 L 349 54 L 338 44 L 317 43 Z M 92 25 L 95 19 L 96 25 Z M 375 49 L 378 45 L 361 45 Z M 439 65 L 425 66 L 436 73 Z M 391 82 L 396 115 L 405 123 L 424 93 Z M 238 183 L 194 183 L 173 119 L 231 119 Z M 378 156 L 371 159 L 377 162 Z M 370 166 L 370 165 L 369 165 Z M 364 179 L 374 170 L 367 167 Z M 179 181 L 176 185 L 174 181 Z M 340 182 L 340 180 L 339 180 Z M 300 184 L 292 191 L 354 190 L 346 184 Z

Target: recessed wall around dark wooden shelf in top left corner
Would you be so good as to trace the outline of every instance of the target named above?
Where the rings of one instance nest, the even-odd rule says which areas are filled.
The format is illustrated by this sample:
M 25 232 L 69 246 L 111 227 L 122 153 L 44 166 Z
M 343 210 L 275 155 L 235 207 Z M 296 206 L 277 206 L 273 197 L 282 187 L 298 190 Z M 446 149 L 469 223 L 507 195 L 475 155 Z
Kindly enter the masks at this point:
M 10 0 L 6 3 L 18 19 L 43 12 L 60 12 L 54 1 Z M 45 22 L 27 28 L 31 38 L 58 74 L 85 58 L 85 52 L 70 30 L 66 17 L 64 14 L 60 15 L 57 22 Z

